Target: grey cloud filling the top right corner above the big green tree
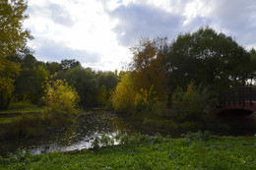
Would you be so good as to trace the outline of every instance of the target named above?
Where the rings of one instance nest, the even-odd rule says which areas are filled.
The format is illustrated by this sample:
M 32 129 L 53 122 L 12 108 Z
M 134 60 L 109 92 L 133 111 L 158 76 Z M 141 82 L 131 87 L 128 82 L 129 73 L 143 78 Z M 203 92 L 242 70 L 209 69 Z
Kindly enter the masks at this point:
M 220 28 L 228 30 L 238 43 L 246 46 L 255 44 L 256 1 L 255 0 L 216 0 L 211 5 L 208 18 L 213 19 Z M 228 34 L 229 35 L 229 34 Z

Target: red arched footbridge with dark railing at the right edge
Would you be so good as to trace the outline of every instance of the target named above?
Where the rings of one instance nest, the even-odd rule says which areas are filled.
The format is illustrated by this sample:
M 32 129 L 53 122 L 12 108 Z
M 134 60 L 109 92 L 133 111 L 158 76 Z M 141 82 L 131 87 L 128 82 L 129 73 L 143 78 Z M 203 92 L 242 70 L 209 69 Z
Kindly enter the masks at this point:
M 237 119 L 256 112 L 256 87 L 243 86 L 220 94 L 219 104 L 214 110 L 218 117 Z

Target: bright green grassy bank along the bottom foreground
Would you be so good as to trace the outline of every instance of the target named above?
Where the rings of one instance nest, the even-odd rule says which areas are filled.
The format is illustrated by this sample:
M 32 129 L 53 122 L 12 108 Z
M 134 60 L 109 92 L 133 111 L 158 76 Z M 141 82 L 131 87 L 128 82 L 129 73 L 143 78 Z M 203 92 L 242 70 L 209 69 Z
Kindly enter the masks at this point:
M 19 152 L 2 158 L 0 169 L 256 169 L 256 137 L 196 133 L 176 140 L 137 136 L 122 143 L 33 156 Z

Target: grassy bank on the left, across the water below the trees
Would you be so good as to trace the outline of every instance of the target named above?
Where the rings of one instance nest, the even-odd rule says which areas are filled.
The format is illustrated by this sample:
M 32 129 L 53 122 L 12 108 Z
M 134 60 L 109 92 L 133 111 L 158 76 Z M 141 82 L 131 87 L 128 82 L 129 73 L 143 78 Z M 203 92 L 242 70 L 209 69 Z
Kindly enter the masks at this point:
M 30 103 L 16 103 L 0 111 L 0 140 L 33 138 L 72 123 L 64 114 L 41 113 L 43 108 Z

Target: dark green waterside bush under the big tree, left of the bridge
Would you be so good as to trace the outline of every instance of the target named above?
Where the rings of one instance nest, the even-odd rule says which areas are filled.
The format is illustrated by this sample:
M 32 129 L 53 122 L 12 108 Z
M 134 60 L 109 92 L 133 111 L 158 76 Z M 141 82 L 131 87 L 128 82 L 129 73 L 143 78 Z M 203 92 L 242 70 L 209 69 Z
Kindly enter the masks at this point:
M 180 122 L 206 120 L 214 105 L 211 97 L 207 87 L 197 88 L 193 82 L 186 91 L 177 87 L 171 97 L 172 107 L 176 111 L 175 118 Z

